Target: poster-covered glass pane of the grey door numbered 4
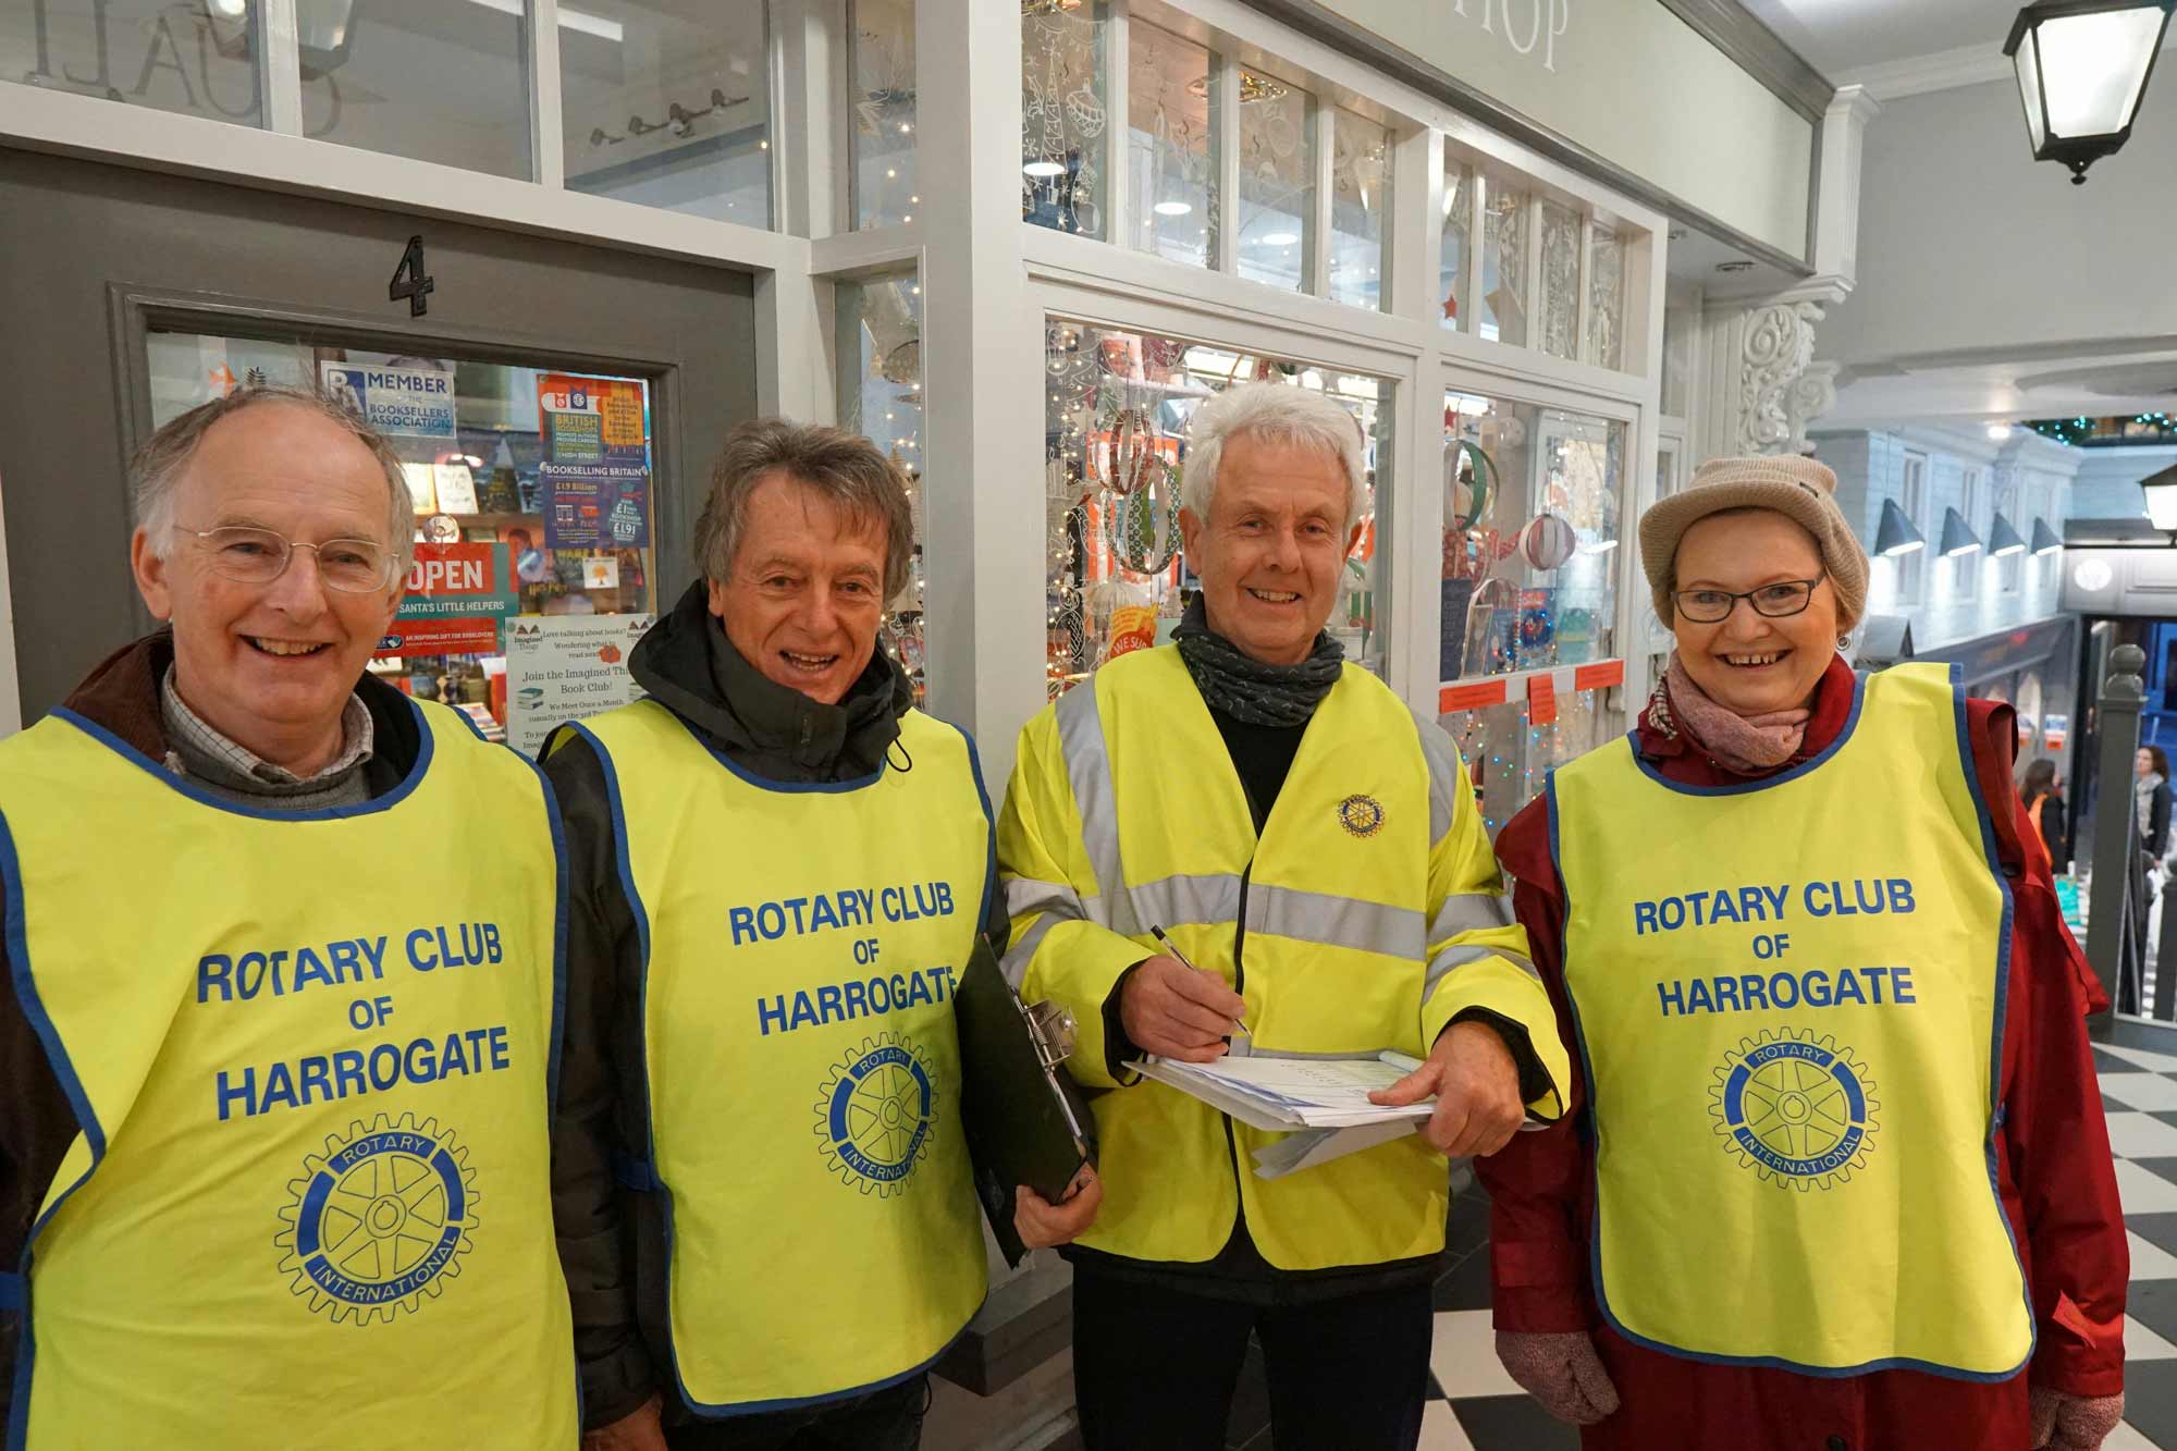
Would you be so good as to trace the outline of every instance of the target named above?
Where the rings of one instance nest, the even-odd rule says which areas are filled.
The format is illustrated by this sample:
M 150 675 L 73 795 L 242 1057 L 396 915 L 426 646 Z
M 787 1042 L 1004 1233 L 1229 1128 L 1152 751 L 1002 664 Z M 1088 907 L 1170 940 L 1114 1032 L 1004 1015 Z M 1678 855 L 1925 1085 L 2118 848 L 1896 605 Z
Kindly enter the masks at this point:
M 385 434 L 418 569 L 370 673 L 529 756 L 553 726 L 634 699 L 625 658 L 657 608 L 644 379 L 213 333 L 150 333 L 148 364 L 155 427 L 239 383 L 287 383 Z

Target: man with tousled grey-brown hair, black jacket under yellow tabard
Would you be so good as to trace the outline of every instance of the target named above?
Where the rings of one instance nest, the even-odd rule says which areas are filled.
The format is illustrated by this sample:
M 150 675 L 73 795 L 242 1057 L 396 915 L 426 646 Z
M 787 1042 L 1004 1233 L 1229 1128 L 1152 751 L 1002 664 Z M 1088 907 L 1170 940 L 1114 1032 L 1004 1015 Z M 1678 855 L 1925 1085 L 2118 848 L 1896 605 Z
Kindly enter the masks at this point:
M 984 1244 L 951 991 L 1004 948 L 964 732 L 877 649 L 903 477 L 866 438 L 725 440 L 649 699 L 562 728 L 575 854 L 559 1253 L 590 1451 L 903 1451 Z M 1088 1224 L 1021 1190 L 1028 1244 Z

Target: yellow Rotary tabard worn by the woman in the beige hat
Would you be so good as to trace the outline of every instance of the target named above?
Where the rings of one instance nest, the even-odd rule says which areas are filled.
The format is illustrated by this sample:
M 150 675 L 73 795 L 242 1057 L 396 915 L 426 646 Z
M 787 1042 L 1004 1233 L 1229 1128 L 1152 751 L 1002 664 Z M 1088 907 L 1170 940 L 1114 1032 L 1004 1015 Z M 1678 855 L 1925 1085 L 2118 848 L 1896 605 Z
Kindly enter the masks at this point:
M 2016 1375 L 2012 898 L 1951 671 L 1870 678 L 1829 749 L 1744 787 L 1604 745 L 1554 771 L 1550 828 L 1611 1325 L 1811 1375 Z

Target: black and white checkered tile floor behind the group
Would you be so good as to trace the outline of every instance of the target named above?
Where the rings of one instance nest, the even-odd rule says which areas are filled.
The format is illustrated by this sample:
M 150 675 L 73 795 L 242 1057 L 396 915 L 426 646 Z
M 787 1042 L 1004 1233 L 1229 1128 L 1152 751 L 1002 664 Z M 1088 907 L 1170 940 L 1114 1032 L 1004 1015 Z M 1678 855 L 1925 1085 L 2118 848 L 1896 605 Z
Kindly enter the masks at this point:
M 2094 1065 L 2131 1240 L 2127 1420 L 2103 1451 L 2177 1451 L 2177 1028 L 2116 1024 L 2114 1041 L 2094 1048 Z M 1576 1451 L 1572 1427 L 1550 1420 L 1504 1375 L 1493 1342 L 1489 1203 L 1465 1187 L 1452 1203 L 1450 1266 L 1437 1281 L 1435 1386 L 1422 1451 Z M 1247 1357 L 1226 1444 L 1271 1451 L 1256 1353 Z

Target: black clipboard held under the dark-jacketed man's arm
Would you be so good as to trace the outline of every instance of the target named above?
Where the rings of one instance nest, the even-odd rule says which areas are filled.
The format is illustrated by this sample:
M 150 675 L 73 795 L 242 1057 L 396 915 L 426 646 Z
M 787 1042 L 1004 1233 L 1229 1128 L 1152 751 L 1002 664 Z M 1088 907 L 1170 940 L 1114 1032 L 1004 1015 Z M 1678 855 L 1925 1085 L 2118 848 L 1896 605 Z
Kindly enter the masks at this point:
M 1062 1065 L 1073 1017 L 1047 1002 L 1025 1007 L 977 932 L 954 989 L 954 1020 L 975 1198 L 1006 1264 L 1017 1266 L 1028 1248 L 1012 1229 L 1014 1187 L 1025 1183 L 1056 1205 L 1080 1168 L 1095 1163 L 1095 1115 Z

